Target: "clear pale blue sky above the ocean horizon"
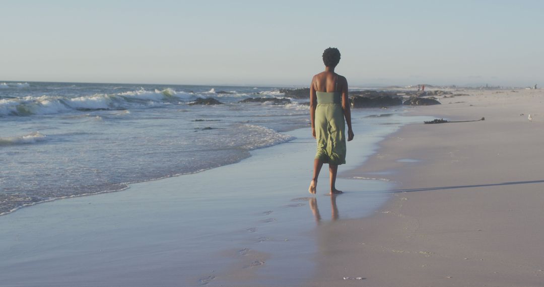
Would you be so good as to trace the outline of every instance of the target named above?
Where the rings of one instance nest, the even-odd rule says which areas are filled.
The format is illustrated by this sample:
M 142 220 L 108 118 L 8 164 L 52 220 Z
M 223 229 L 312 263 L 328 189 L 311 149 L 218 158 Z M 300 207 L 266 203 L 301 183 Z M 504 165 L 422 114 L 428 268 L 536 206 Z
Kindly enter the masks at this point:
M 0 1 L 0 80 L 544 86 L 542 1 Z

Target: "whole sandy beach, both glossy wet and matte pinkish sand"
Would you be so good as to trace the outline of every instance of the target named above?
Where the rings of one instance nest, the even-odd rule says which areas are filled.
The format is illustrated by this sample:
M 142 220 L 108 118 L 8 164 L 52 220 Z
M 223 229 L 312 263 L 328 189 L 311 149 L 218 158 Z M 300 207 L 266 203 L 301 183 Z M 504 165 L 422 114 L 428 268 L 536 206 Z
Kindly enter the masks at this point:
M 543 92 L 459 93 L 355 112 L 343 195 L 325 169 L 306 193 L 298 129 L 237 164 L 1 216 L 0 285 L 542 286 Z

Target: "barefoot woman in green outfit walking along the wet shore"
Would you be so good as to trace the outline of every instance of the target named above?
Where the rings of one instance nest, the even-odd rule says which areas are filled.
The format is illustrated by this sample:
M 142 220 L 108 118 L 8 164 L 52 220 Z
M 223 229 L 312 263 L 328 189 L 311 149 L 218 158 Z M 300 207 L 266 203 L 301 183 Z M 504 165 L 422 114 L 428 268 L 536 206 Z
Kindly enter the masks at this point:
M 340 61 L 337 48 L 323 52 L 325 71 L 316 74 L 310 84 L 310 120 L 312 136 L 317 140 L 317 153 L 313 161 L 313 178 L 308 191 L 316 194 L 317 178 L 323 164 L 329 164 L 330 194 L 341 194 L 336 189 L 338 165 L 345 164 L 345 124 L 348 124 L 348 141 L 353 140 L 351 111 L 348 99 L 348 81 L 335 73 Z M 345 118 L 345 121 L 344 121 Z

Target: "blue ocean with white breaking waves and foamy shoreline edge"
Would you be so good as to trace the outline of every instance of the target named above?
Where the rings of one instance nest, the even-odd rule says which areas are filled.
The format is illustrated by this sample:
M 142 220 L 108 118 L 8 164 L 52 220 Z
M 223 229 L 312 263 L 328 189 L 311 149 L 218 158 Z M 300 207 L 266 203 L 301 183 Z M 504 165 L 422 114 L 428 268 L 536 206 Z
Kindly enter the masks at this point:
M 0 83 L 0 214 L 236 163 L 308 124 L 277 88 Z M 188 105 L 199 97 L 223 105 Z

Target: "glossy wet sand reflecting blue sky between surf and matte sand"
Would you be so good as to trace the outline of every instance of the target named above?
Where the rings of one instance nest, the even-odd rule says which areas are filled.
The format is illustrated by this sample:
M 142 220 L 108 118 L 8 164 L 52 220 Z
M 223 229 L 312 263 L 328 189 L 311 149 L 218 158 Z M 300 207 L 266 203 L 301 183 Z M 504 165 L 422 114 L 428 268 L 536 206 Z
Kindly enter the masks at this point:
M 360 165 L 398 125 L 415 118 L 354 110 L 348 163 Z M 400 111 L 397 111 L 400 112 Z M 385 127 L 385 128 L 384 128 Z M 0 217 L 0 270 L 7 285 L 300 285 L 311 276 L 316 224 L 373 214 L 393 183 L 338 179 L 345 194 L 307 193 L 310 129 L 251 151 L 237 164 L 70 198 Z

